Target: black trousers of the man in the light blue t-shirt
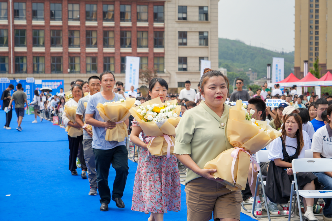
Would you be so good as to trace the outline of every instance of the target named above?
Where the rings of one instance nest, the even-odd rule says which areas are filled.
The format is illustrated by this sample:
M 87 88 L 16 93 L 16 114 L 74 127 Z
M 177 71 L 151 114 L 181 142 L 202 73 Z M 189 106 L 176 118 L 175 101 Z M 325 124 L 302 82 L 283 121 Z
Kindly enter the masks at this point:
M 109 150 L 93 148 L 95 153 L 97 185 L 100 195 L 100 203 L 110 203 L 111 191 L 108 186 L 110 166 L 115 169 L 116 176 L 113 183 L 112 196 L 121 198 L 128 176 L 128 151 L 126 146 L 117 146 Z

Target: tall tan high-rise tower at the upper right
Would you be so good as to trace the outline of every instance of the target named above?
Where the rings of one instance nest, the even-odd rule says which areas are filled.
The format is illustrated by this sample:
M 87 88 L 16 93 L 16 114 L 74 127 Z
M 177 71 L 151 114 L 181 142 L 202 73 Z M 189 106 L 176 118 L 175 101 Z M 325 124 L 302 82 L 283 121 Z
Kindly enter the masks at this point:
M 332 71 L 332 2 L 295 0 L 294 75 L 303 78 L 303 61 L 309 70 L 317 57 L 321 75 Z

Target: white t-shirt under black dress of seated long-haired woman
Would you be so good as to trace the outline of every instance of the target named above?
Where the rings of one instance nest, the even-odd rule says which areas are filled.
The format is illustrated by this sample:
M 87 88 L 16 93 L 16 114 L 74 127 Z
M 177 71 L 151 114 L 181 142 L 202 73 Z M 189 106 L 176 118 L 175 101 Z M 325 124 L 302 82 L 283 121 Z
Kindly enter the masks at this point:
M 304 146 L 300 152 L 300 154 L 298 155 L 298 159 L 300 158 L 304 158 L 304 150 L 308 150 L 311 149 L 311 140 L 309 138 L 309 135 L 305 132 L 302 131 L 303 133 L 303 141 L 304 141 Z M 297 141 L 296 141 L 296 137 L 295 138 L 290 138 L 286 136 L 286 151 L 288 153 L 288 155 L 292 156 L 295 154 L 296 149 L 297 148 Z M 293 146 L 293 147 L 289 147 L 289 146 Z M 274 159 L 284 159 L 284 155 L 283 155 L 283 144 L 281 142 L 280 137 L 274 139 L 269 146 L 269 160 L 274 160 Z

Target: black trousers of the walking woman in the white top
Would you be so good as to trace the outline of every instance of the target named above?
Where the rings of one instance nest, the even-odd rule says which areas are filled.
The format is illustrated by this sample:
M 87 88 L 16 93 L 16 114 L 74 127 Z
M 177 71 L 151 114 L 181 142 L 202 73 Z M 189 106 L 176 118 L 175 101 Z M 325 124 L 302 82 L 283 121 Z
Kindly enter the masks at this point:
M 81 146 L 81 151 L 83 150 L 83 135 L 77 138 L 72 138 L 68 135 L 68 141 L 69 141 L 69 170 L 74 171 L 77 169 L 76 157 L 79 146 Z M 80 161 L 81 161 L 81 169 L 82 170 L 86 169 L 87 167 L 85 165 L 84 154 L 80 154 Z

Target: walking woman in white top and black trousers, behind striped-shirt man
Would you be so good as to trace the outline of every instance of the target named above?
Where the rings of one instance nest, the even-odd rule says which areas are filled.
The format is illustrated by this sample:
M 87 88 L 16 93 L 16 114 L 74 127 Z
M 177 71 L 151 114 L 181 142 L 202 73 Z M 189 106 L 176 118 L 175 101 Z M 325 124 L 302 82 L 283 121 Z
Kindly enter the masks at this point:
M 82 86 L 79 84 L 74 84 L 73 87 L 71 88 L 71 92 L 73 94 L 73 99 L 65 103 L 67 107 L 77 106 L 79 99 L 83 97 Z M 70 126 L 76 129 L 81 129 L 81 127 L 76 122 L 71 122 L 69 120 L 64 110 L 65 107 L 63 108 L 63 114 L 62 114 L 62 122 L 64 126 L 66 127 Z M 68 140 L 69 140 L 69 170 L 71 171 L 71 175 L 77 176 L 76 158 L 77 158 L 78 148 L 81 147 L 81 149 L 83 149 L 83 132 L 80 136 L 77 137 L 70 137 L 68 135 Z M 82 169 L 81 177 L 82 179 L 86 179 L 87 167 L 85 165 L 84 156 L 81 157 L 81 155 L 83 156 L 83 154 L 80 154 L 81 169 Z

